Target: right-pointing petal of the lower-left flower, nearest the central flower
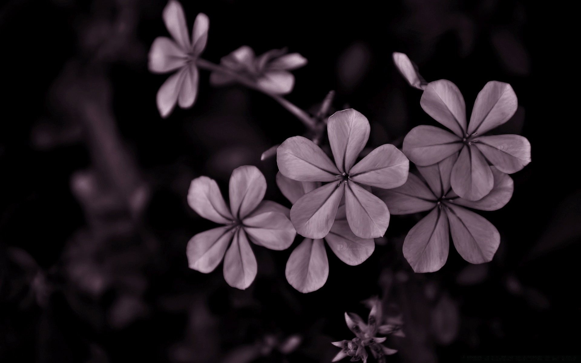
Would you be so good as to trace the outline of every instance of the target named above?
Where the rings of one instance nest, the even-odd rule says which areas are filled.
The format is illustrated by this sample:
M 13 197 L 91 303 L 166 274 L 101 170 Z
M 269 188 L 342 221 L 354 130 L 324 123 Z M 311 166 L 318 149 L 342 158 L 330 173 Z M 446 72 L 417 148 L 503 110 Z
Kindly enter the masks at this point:
M 285 250 L 295 240 L 295 228 L 286 215 L 280 212 L 251 215 L 242 224 L 250 240 L 267 249 Z

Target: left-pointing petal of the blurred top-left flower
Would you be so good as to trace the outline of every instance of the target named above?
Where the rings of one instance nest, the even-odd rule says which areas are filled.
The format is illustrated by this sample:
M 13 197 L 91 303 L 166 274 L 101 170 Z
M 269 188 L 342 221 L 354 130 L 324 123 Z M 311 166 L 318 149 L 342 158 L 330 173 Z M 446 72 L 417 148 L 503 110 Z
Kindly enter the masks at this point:
M 149 49 L 148 68 L 152 73 L 167 73 L 184 66 L 186 55 L 173 40 L 157 37 Z

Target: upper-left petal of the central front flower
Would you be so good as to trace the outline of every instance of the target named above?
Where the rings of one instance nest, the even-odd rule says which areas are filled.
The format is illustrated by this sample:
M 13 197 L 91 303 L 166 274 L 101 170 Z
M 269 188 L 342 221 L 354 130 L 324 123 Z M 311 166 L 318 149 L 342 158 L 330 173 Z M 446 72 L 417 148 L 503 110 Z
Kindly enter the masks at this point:
M 303 136 L 278 146 L 277 164 L 282 175 L 297 181 L 335 181 L 341 174 L 323 150 Z

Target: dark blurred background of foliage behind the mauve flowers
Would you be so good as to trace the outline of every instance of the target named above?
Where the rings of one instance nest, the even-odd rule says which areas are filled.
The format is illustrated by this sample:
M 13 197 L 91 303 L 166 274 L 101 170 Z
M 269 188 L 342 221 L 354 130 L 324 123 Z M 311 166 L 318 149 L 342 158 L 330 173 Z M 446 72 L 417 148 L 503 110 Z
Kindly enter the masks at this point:
M 253 164 L 267 178 L 266 199 L 289 206 L 275 159 L 260 155 L 305 130 L 265 95 L 210 87 L 206 71 L 196 105 L 160 118 L 155 95 L 166 76 L 149 73 L 147 52 L 167 36 L 165 5 L 0 5 L 1 362 L 329 362 L 338 352 L 330 342 L 353 337 L 343 312 L 367 316 L 360 302 L 371 296 L 403 315 L 406 337 L 389 338 L 399 349 L 390 362 L 579 353 L 570 9 L 511 0 L 184 2 L 188 28 L 198 12 L 210 17 L 205 59 L 217 63 L 241 45 L 288 46 L 309 60 L 293 72 L 288 99 L 314 112 L 335 90 L 333 109 L 354 107 L 370 120 L 373 147 L 433 123 L 421 91 L 393 66 L 394 51 L 426 80 L 456 83 L 468 112 L 487 81 L 517 93 L 517 114 L 500 131 L 528 138 L 532 163 L 511 175 L 507 206 L 482 213 L 501 233 L 491 263 L 470 265 L 450 249 L 440 271 L 414 274 L 401 245 L 421 215 L 396 216 L 365 263 L 328 253 L 327 283 L 302 294 L 284 274 L 300 238 L 285 251 L 253 245 L 258 275 L 244 291 L 225 283 L 221 266 L 188 268 L 188 240 L 214 227 L 189 208 L 189 182 L 207 175 L 225 192 L 231 171 Z

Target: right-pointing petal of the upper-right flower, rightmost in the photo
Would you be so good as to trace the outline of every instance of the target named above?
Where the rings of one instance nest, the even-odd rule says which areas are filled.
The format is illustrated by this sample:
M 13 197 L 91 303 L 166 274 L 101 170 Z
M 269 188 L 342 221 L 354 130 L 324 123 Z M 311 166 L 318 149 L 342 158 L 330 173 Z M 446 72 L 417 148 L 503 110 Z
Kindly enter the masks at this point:
M 490 164 L 512 174 L 530 163 L 530 143 L 520 135 L 480 136 L 475 142 Z

